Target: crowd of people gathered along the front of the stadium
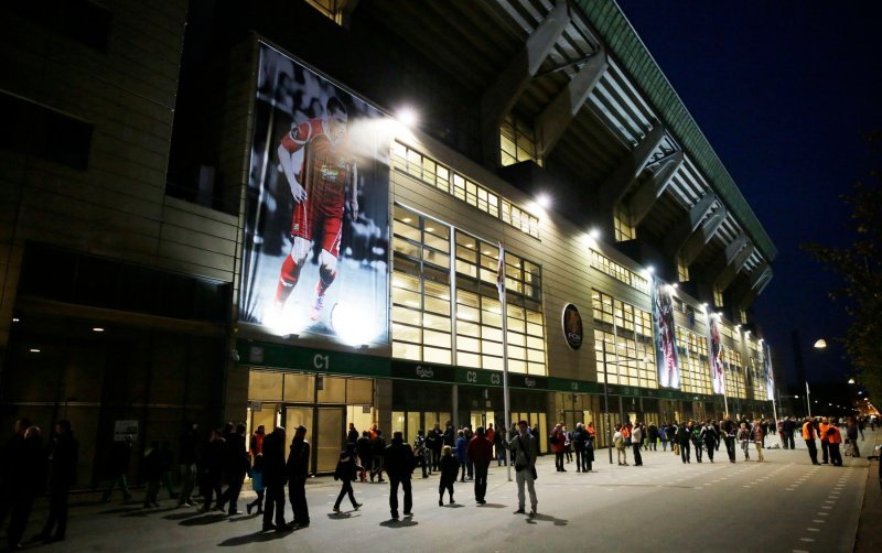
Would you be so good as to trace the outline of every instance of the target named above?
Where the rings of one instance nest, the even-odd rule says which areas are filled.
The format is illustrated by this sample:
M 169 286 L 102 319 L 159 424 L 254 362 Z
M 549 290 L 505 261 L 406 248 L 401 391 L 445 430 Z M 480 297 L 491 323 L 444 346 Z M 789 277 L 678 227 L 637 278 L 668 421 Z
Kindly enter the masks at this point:
M 725 445 L 730 463 L 736 462 L 740 448 L 743 460 L 751 460 L 754 452 L 756 460 L 763 462 L 763 449 L 768 436 L 777 433 L 782 448 L 795 448 L 795 434 L 800 433 L 813 464 L 842 465 L 842 454 L 860 456 L 858 437 L 863 440 L 867 421 L 858 418 L 828 419 L 806 418 L 797 421 L 785 418 L 777 423 L 772 420 L 733 420 L 727 415 L 722 420 L 654 422 L 626 421 L 615 425 L 612 445 L 616 449 L 619 465 L 628 466 L 628 451 L 633 465 L 643 466 L 642 452 L 670 451 L 684 464 L 690 464 L 692 453 L 697 463 L 703 458 L 714 462 L 714 453 Z M 875 421 L 869 422 L 874 426 Z M 840 431 L 839 426 L 845 426 Z M 444 429 L 434 424 L 428 432 L 419 430 L 413 444 L 405 441 L 400 431 L 392 433 L 387 443 L 377 424 L 361 433 L 351 423 L 346 433 L 346 445 L 341 452 L 334 479 L 341 481 L 341 489 L 333 511 L 340 512 L 344 499 L 348 498 L 352 508 L 357 510 L 362 503 L 356 501 L 353 482 L 387 482 L 390 487 L 389 510 L 392 519 L 399 518 L 398 489 L 404 492 L 404 516 L 413 513 L 411 494 L 412 474 L 420 469 L 422 478 L 439 476 L 438 505 L 454 503 L 454 486 L 470 481 L 473 485 L 474 500 L 486 503 L 487 474 L 491 463 L 497 466 L 510 464 L 517 482 L 518 509 L 526 512 L 526 496 L 529 495 L 530 514 L 536 514 L 538 500 L 535 481 L 536 459 L 539 456 L 539 427 L 529 427 L 526 421 L 508 429 L 486 429 L 474 431 L 470 425 L 454 429 L 448 421 Z M 843 438 L 845 435 L 845 438 Z M 289 531 L 310 524 L 305 484 L 311 462 L 306 427 L 293 431 L 290 444 L 282 426 L 266 433 L 258 426 L 250 440 L 246 436 L 244 424 L 227 423 L 214 429 L 205 438 L 197 424 L 187 424 L 181 435 L 179 447 L 180 490 L 172 484 L 174 455 L 168 442 L 151 442 L 144 449 L 142 474 L 146 481 L 143 508 L 159 507 L 158 495 L 164 486 L 169 497 L 178 500 L 179 507 L 196 507 L 202 512 L 226 511 L 239 514 L 239 495 L 246 475 L 250 477 L 251 488 L 257 497 L 245 506 L 248 514 L 256 511 L 262 516 L 263 531 Z M 555 455 L 557 471 L 567 471 L 566 466 L 576 464 L 577 473 L 593 470 L 596 431 L 594 424 L 578 423 L 569 431 L 563 422 L 556 424 L 548 434 L 550 453 Z M 817 441 L 820 442 L 821 460 L 818 460 Z M 840 452 L 840 444 L 845 452 Z M 777 444 L 774 445 L 777 447 Z M 288 448 L 288 455 L 286 455 Z M 131 460 L 132 440 L 123 436 L 115 441 L 110 449 L 108 477 L 109 485 L 103 495 L 109 501 L 116 488 L 123 500 L 132 497 L 127 475 Z M 28 419 L 15 422 L 12 437 L 2 455 L 2 479 L 0 479 L 0 523 L 10 518 L 9 547 L 21 547 L 21 540 L 36 496 L 49 492 L 50 511 L 41 541 L 65 539 L 67 523 L 67 494 L 76 481 L 78 445 L 74 438 L 69 421 L 62 420 L 50 436 L 49 447 L 43 445 L 41 429 Z M 385 475 L 385 478 L 384 478 Z M 284 520 L 284 501 L 291 503 L 293 521 Z

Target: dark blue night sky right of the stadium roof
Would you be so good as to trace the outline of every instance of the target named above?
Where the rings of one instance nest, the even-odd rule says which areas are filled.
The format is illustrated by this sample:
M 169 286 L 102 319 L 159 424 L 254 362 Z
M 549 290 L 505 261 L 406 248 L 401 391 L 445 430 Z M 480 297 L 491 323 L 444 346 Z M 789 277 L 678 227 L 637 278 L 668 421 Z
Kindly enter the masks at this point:
M 861 138 L 882 131 L 882 2 L 619 4 L 779 251 L 754 308 L 787 379 L 794 329 L 809 382 L 848 378 L 839 281 L 799 246 L 848 243 L 839 195 L 882 169 Z

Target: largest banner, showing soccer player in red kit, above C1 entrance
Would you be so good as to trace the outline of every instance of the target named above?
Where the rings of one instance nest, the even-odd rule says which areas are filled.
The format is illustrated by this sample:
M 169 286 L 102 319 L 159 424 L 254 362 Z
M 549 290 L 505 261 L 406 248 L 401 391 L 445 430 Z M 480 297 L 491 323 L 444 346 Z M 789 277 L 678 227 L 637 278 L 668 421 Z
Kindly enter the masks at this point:
M 388 344 L 389 121 L 260 44 L 243 322 Z

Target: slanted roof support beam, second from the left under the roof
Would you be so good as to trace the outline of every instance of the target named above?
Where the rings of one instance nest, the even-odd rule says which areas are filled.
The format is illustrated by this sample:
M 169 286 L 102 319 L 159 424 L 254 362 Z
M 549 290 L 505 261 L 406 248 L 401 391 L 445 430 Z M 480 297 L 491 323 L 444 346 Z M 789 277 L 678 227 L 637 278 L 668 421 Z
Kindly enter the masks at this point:
M 540 160 L 551 153 L 609 65 L 606 51 L 601 45 L 598 52 L 588 58 L 579 73 L 570 79 L 563 90 L 539 115 L 536 120 L 536 148 Z

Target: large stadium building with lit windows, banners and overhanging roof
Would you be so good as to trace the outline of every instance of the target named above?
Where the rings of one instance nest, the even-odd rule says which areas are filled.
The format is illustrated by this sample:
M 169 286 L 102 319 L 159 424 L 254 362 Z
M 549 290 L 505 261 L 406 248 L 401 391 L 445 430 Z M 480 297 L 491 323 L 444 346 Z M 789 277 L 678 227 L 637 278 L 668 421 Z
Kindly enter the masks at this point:
M 305 424 L 314 471 L 347 423 L 498 425 L 506 365 L 542 449 L 772 415 L 775 247 L 614 2 L 53 6 L 3 25 L 0 404 L 73 422 L 80 486 L 194 421 Z M 353 187 L 280 296 L 316 137 Z

